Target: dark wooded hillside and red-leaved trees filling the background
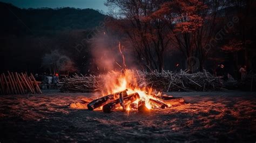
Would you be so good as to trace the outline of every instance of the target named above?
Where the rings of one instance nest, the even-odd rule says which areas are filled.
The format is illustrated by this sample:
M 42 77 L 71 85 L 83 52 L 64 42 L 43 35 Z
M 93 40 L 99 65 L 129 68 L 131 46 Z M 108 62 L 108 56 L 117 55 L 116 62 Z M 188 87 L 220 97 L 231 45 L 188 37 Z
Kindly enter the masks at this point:
M 242 65 L 255 70 L 254 1 L 110 0 L 105 5 L 108 13 L 1 3 L 1 70 L 53 73 L 68 67 L 102 73 L 118 69 L 123 57 L 129 57 L 130 69 L 136 65 L 148 71 L 214 73 L 223 64 L 238 77 Z M 56 67 L 56 54 L 70 65 Z M 49 60 L 51 65 L 45 65 Z

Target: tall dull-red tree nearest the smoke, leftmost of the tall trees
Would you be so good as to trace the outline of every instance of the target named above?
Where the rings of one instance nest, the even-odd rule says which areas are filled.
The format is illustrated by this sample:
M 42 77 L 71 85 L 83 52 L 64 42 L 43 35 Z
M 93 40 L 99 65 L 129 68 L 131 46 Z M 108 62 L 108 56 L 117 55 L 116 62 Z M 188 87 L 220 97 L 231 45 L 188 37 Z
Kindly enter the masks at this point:
M 150 69 L 157 69 L 159 72 L 164 65 L 164 52 L 170 44 L 166 37 L 166 24 L 154 17 L 152 13 L 160 8 L 163 1 L 125 1 L 108 0 L 107 6 L 118 7 L 119 12 L 112 21 L 115 27 L 124 31 L 127 39 L 137 53 L 138 60 Z M 114 16 L 114 15 L 112 15 Z

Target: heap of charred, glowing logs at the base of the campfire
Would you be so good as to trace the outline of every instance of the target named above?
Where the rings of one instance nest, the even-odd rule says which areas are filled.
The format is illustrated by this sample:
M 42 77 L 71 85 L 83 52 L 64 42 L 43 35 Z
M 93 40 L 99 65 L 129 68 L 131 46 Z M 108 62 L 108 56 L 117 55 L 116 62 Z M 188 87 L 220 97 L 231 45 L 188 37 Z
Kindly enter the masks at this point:
M 184 99 L 180 97 L 156 94 L 152 94 L 150 97 L 146 103 L 145 100 L 140 98 L 139 93 L 127 94 L 127 90 L 124 90 L 97 98 L 87 104 L 87 108 L 88 110 L 102 108 L 105 113 L 110 113 L 118 108 L 121 108 L 123 111 L 137 110 L 139 112 L 148 112 L 151 108 L 167 108 L 184 103 Z

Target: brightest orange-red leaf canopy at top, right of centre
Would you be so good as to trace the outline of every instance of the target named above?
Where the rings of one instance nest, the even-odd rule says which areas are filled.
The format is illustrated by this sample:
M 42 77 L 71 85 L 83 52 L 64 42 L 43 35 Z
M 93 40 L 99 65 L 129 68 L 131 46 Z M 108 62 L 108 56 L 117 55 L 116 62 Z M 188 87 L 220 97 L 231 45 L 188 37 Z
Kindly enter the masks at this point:
M 161 8 L 152 13 L 154 18 L 166 18 L 176 24 L 177 32 L 193 32 L 203 25 L 203 18 L 198 11 L 206 9 L 207 6 L 197 0 L 194 1 L 172 1 L 161 5 Z

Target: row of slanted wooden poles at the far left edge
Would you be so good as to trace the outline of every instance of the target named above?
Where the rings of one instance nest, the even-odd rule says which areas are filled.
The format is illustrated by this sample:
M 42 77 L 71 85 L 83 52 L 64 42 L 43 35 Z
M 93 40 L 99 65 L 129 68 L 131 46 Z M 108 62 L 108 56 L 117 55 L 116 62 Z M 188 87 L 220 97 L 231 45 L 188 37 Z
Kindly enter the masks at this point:
M 35 77 L 31 73 L 17 73 L 9 72 L 7 74 L 2 73 L 0 76 L 0 94 L 42 94 L 39 85 L 41 82 L 36 81 Z

